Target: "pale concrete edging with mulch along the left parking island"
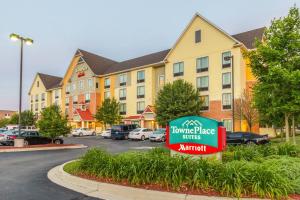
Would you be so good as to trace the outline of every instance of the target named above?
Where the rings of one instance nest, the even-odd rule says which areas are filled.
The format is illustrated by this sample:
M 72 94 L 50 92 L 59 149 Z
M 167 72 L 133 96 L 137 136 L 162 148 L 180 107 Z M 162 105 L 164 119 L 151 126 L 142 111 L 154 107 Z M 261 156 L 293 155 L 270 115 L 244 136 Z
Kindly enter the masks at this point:
M 22 152 L 22 151 L 44 151 L 44 150 L 59 150 L 59 149 L 82 149 L 87 146 L 82 144 L 48 144 L 48 145 L 31 145 L 26 147 L 0 146 L 0 153 L 3 152 Z

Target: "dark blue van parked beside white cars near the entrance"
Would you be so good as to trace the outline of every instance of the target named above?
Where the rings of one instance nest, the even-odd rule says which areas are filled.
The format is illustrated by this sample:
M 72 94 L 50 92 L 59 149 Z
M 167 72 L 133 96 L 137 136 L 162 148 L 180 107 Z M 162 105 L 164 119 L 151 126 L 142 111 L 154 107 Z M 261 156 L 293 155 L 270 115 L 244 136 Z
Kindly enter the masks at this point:
M 121 124 L 121 125 L 113 125 L 111 127 L 111 138 L 113 140 L 116 139 L 128 139 L 129 132 L 139 128 L 137 124 Z

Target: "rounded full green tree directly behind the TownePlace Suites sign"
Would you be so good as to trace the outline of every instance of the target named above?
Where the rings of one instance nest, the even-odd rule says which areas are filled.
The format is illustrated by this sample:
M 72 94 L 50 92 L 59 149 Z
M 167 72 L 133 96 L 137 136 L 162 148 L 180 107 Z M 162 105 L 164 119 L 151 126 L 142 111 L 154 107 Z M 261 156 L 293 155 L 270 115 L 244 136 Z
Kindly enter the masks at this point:
M 176 80 L 167 83 L 159 92 L 155 101 L 156 120 L 160 125 L 187 115 L 199 115 L 202 102 L 199 92 L 191 83 Z

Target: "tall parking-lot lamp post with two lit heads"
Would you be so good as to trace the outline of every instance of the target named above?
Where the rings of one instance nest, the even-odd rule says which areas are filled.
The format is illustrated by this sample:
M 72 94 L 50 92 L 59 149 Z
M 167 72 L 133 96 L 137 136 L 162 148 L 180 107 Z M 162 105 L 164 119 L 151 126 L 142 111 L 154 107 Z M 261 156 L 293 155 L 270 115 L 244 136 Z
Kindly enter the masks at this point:
M 23 82 L 23 44 L 32 45 L 33 40 L 30 38 L 24 38 L 18 34 L 12 33 L 10 34 L 10 39 L 12 41 L 20 41 L 21 42 L 21 55 L 20 55 L 20 88 L 19 88 L 19 135 L 21 134 L 21 113 L 22 113 L 22 82 Z

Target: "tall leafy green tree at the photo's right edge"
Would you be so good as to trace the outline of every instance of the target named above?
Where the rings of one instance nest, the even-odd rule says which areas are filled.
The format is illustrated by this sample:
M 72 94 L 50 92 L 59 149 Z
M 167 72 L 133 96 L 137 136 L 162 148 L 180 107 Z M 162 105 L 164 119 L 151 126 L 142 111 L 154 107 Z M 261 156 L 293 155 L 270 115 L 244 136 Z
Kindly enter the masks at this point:
M 258 82 L 254 101 L 260 114 L 282 113 L 286 141 L 289 141 L 289 119 L 300 110 L 300 16 L 294 6 L 286 17 L 274 19 L 256 41 L 256 50 L 245 53 Z

